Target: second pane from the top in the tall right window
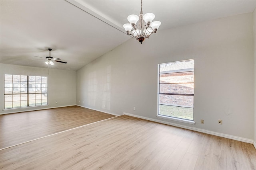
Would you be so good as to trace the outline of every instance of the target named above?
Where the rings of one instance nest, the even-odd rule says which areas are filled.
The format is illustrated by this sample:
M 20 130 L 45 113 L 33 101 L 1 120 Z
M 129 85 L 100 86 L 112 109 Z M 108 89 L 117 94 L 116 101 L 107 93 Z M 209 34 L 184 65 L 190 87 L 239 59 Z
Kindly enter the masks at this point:
M 159 75 L 160 83 L 193 83 L 194 72 L 178 72 Z

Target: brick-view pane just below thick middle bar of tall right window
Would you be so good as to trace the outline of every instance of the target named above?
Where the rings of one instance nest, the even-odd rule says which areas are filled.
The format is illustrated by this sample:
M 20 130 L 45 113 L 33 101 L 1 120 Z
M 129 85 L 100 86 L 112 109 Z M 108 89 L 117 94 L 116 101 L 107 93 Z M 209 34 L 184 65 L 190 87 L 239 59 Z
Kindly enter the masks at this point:
M 159 94 L 159 104 L 171 106 L 193 107 L 194 96 Z

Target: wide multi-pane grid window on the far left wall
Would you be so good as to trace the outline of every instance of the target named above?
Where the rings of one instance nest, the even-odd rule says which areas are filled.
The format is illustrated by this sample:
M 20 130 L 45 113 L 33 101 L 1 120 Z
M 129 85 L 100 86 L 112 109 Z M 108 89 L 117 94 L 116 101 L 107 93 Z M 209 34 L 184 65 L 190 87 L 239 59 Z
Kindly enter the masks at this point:
M 47 77 L 4 74 L 4 109 L 47 105 Z

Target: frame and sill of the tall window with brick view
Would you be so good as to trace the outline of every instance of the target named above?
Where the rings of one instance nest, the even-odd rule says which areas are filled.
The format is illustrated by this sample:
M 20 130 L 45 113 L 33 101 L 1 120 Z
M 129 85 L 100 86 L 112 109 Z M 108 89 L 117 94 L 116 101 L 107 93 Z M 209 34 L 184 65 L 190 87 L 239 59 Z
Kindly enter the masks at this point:
M 194 59 L 189 59 L 189 60 L 183 60 L 183 61 L 191 61 Z M 174 61 L 174 62 L 169 62 L 169 63 L 178 63 L 178 62 L 183 62 L 183 61 Z M 169 64 L 169 63 L 161 63 L 161 64 L 158 64 L 158 82 L 157 82 L 157 87 L 158 87 L 158 92 L 157 92 L 157 115 L 156 117 L 157 118 L 162 118 L 162 119 L 168 119 L 168 120 L 173 120 L 173 121 L 178 121 L 178 122 L 182 122 L 182 123 L 188 123 L 188 124 L 195 124 L 194 122 L 194 104 L 193 104 L 193 107 L 190 107 L 190 108 L 193 108 L 193 120 L 189 120 L 189 119 L 183 119 L 183 118 L 179 118 L 179 117 L 172 117 L 172 116 L 168 116 L 168 115 L 160 115 L 159 112 L 160 112 L 160 95 L 161 94 L 166 94 L 166 93 L 160 93 L 160 65 L 162 64 Z M 193 69 L 180 69 L 180 72 L 193 72 L 193 75 L 194 75 L 194 68 Z M 168 71 L 166 72 L 166 74 L 168 73 L 180 73 L 178 72 L 177 70 L 174 70 L 173 72 L 172 71 Z M 163 73 L 162 73 L 163 74 Z M 163 83 L 162 83 L 163 84 Z M 171 84 L 171 83 L 170 83 Z M 193 84 L 194 84 L 194 80 L 193 80 Z M 176 95 L 176 96 L 193 96 L 194 97 L 194 92 L 193 94 L 177 94 L 177 93 L 167 93 L 167 95 Z M 193 103 L 194 103 L 194 98 L 193 98 Z M 179 107 L 183 107 L 183 106 L 179 106 Z

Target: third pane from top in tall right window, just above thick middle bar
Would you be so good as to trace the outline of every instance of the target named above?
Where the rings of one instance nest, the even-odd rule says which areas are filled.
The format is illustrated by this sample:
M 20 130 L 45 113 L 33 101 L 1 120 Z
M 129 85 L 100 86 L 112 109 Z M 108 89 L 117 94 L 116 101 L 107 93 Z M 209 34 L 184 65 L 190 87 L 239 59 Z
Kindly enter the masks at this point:
M 194 83 L 159 84 L 160 93 L 194 94 Z

